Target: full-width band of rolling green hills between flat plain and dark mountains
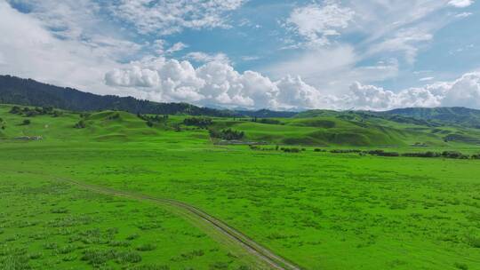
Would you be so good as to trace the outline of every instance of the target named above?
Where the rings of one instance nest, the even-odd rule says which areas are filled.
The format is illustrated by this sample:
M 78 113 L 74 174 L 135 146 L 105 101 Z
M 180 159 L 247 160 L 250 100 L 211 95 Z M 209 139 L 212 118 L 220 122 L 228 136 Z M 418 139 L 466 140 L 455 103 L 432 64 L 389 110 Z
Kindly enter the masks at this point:
M 189 115 L 133 115 L 106 110 L 76 113 L 49 108 L 0 106 L 0 138 L 42 137 L 62 141 L 192 140 L 209 143 L 209 131 L 243 132 L 244 141 L 335 147 L 454 147 L 480 144 L 476 129 L 406 121 L 365 113 L 303 113 L 293 118 L 210 117 L 207 126 L 186 125 Z M 34 113 L 33 113 L 34 112 Z M 305 117 L 308 116 L 308 117 Z M 399 116 L 400 117 L 400 116 Z M 410 119 L 412 120 L 412 119 Z M 25 122 L 28 123 L 25 123 Z M 221 138 L 220 138 L 221 139 Z M 220 140 L 219 139 L 219 140 Z

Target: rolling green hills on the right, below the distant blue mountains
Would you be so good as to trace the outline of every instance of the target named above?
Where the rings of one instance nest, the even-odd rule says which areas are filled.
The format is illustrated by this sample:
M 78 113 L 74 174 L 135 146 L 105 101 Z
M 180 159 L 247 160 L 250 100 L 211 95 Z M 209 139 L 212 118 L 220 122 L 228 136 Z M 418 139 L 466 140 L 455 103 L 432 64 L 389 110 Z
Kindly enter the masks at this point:
M 403 116 L 383 117 L 358 113 L 322 111 L 300 113 L 293 118 L 268 121 L 219 121 L 217 129 L 244 131 L 247 139 L 287 145 L 446 147 L 456 143 L 480 143 L 480 131 L 440 125 Z

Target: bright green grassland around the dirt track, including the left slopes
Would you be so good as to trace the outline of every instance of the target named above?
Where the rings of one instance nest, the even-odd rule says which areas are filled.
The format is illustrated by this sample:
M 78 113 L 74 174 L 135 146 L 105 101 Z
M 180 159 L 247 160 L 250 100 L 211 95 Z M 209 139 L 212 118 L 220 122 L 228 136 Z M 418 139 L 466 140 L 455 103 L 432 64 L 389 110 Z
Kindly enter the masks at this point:
M 92 113 L 76 129 L 79 114 L 36 115 L 22 124 L 26 117 L 10 109 L 0 107 L 3 268 L 260 267 L 175 211 L 56 180 L 68 178 L 195 205 L 304 269 L 480 269 L 480 161 L 314 151 L 478 154 L 470 141 L 444 141 L 448 134 L 480 137 L 474 129 L 336 114 L 279 123 L 213 119 L 213 129 L 244 131 L 246 140 L 305 146 L 284 153 L 215 146 L 208 131 L 181 124 L 182 115 L 149 127 L 137 115 Z M 13 139 L 19 136 L 43 139 Z M 411 146 L 417 142 L 425 146 Z M 140 236 L 128 240 L 131 234 Z M 177 259 L 196 250 L 203 255 Z

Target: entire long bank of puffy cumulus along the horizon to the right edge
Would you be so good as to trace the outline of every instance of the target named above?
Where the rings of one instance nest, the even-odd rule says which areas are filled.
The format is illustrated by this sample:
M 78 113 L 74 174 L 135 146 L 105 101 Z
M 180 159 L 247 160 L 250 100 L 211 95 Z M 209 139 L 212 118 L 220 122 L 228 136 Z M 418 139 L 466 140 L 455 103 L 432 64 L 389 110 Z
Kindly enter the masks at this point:
M 193 67 L 187 60 L 164 58 L 132 62 L 105 75 L 109 85 L 132 87 L 159 101 L 186 101 L 223 107 L 386 110 L 397 107 L 480 107 L 480 73 L 468 73 L 452 82 L 427 84 L 402 91 L 352 83 L 348 93 L 325 94 L 300 76 L 277 81 L 254 71 L 239 73 L 227 63 L 211 61 Z

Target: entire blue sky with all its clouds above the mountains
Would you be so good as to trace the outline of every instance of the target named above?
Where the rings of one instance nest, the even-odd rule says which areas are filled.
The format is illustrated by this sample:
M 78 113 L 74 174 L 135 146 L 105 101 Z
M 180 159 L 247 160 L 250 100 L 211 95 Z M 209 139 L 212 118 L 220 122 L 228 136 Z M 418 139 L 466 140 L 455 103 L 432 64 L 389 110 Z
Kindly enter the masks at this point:
M 200 106 L 480 108 L 475 0 L 0 0 L 0 73 Z

